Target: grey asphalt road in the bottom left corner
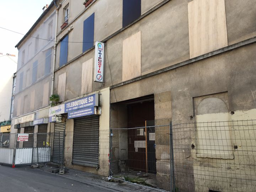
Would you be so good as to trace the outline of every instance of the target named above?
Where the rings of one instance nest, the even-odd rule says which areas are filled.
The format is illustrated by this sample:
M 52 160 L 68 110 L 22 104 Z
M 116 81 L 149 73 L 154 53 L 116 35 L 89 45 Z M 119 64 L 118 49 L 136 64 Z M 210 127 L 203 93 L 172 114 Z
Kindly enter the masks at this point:
M 107 191 L 28 166 L 0 166 L 0 192 Z

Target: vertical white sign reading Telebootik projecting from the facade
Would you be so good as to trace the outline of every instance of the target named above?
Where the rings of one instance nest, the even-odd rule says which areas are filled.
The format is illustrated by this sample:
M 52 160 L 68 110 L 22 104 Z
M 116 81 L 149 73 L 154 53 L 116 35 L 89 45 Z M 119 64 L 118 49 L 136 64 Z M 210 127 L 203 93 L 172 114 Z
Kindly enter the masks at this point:
M 96 41 L 95 43 L 95 67 L 94 81 L 103 82 L 104 73 L 104 43 Z

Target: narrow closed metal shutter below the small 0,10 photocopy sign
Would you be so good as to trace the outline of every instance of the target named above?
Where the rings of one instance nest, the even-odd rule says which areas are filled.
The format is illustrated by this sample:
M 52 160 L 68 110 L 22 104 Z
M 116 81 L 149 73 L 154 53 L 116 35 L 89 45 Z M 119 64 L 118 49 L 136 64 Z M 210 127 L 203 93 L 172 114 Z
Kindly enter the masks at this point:
M 65 123 L 54 124 L 54 137 L 53 137 L 53 159 L 55 163 L 60 163 L 60 159 L 63 158 L 63 146 L 64 146 L 64 132 Z

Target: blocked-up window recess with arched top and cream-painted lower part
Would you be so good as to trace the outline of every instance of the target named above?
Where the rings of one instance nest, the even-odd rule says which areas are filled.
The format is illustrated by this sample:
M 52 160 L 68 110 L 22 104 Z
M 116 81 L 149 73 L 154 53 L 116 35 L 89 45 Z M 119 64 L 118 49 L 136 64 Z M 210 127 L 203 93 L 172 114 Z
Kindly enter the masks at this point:
M 227 93 L 194 98 L 197 157 L 233 159 Z M 224 102 L 225 101 L 225 102 Z

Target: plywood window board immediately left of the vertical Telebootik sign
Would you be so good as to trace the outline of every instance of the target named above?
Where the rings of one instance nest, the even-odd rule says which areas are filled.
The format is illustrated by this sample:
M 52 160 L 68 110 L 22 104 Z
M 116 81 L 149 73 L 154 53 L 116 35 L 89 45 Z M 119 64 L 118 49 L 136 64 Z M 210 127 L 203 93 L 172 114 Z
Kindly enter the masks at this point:
M 93 58 L 82 64 L 81 95 L 92 92 Z

